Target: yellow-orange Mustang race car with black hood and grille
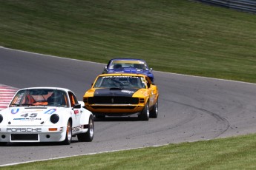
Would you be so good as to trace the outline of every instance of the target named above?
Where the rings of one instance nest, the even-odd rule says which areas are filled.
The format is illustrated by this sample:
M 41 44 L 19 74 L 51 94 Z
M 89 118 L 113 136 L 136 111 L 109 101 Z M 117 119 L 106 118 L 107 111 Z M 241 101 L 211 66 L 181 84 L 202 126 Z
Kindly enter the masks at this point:
M 142 74 L 99 75 L 83 101 L 96 118 L 137 113 L 140 120 L 148 120 L 158 115 L 157 86 Z

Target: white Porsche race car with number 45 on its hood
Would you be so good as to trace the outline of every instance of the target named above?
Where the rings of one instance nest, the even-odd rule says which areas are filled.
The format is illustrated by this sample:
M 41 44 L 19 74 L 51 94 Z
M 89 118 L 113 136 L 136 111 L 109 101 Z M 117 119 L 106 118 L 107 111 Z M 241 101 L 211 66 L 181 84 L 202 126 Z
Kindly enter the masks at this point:
M 7 142 L 62 142 L 72 136 L 92 141 L 93 115 L 69 89 L 20 89 L 7 109 L 0 112 L 0 145 Z

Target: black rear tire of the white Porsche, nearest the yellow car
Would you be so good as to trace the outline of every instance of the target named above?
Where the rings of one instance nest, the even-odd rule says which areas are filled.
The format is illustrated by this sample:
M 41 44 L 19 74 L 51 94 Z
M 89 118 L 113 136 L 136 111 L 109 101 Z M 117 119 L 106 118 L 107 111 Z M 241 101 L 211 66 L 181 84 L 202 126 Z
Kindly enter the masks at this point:
M 82 134 L 77 135 L 77 138 L 81 142 L 91 142 L 94 136 L 94 123 L 93 116 L 91 115 L 88 123 L 88 131 Z

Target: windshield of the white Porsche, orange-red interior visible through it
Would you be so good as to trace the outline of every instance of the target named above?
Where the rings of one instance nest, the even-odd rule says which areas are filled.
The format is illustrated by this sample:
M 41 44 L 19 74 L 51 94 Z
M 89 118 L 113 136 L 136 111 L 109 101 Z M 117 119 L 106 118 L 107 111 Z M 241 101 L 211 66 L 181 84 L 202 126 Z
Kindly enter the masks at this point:
M 57 89 L 23 89 L 17 92 L 10 107 L 16 106 L 68 106 L 64 91 Z

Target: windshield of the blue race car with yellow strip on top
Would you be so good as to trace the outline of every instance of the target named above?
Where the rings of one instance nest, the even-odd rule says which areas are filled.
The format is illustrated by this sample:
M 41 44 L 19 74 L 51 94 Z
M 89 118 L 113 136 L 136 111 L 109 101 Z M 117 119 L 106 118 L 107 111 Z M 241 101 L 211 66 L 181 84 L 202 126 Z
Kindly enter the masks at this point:
M 124 69 L 124 68 L 146 69 L 147 65 L 143 61 L 112 61 L 109 69 Z

